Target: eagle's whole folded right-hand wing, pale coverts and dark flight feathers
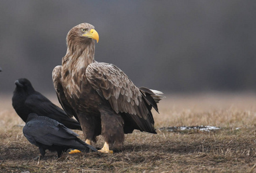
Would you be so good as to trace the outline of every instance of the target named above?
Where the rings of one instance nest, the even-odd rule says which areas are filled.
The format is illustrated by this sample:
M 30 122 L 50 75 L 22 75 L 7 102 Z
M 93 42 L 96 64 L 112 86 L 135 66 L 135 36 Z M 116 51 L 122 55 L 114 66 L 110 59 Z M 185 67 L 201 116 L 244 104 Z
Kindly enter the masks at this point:
M 154 119 L 140 89 L 122 70 L 109 63 L 94 62 L 88 65 L 86 77 L 117 114 L 127 113 L 142 130 L 153 128 Z

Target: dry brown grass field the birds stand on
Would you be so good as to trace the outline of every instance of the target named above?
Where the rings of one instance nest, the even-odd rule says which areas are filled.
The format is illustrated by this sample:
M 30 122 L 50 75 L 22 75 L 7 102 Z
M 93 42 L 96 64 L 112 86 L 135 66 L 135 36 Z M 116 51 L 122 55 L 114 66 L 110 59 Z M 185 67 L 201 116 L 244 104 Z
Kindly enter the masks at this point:
M 48 95 L 49 96 L 49 95 Z M 0 99 L 0 172 L 255 172 L 256 95 L 168 95 L 153 112 L 155 127 L 210 125 L 217 131 L 135 131 L 114 154 L 62 155 L 47 151 L 41 160 L 36 146 L 23 136 L 24 122 Z M 54 95 L 50 100 L 57 104 Z M 239 127 L 239 129 L 237 129 Z M 76 131 L 83 139 L 81 131 Z M 96 147 L 103 146 L 98 137 Z

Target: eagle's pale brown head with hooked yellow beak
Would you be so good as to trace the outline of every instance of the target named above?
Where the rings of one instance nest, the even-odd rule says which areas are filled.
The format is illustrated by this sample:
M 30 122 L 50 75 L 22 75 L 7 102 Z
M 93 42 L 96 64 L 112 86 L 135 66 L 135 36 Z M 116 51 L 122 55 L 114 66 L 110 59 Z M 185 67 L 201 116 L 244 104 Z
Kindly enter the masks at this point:
M 94 40 L 99 42 L 98 32 L 95 31 L 94 26 L 88 23 L 81 23 L 73 27 L 66 36 L 66 43 L 71 44 L 90 44 Z

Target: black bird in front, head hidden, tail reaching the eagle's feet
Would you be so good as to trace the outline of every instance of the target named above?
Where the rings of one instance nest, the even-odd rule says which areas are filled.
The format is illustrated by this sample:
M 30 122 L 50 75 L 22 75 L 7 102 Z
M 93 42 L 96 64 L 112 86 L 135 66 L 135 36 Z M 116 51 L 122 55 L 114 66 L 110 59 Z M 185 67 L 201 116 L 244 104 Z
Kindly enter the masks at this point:
M 61 123 L 46 116 L 29 114 L 23 134 L 27 140 L 39 147 L 40 154 L 45 155 L 46 149 L 51 152 L 57 151 L 58 157 L 68 149 L 78 149 L 83 152 L 98 152 L 94 146 L 77 138 L 79 136 Z

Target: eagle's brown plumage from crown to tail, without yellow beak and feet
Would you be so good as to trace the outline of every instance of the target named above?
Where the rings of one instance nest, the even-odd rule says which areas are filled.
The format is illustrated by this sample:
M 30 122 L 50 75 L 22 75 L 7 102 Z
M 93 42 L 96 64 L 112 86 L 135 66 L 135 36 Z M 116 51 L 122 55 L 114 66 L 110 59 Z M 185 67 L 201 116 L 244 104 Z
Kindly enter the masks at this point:
M 124 141 L 134 129 L 156 133 L 151 108 L 157 109 L 162 96 L 137 88 L 118 67 L 94 60 L 95 42 L 81 30 L 94 27 L 84 23 L 69 31 L 62 66 L 53 70 L 58 99 L 70 116 L 80 122 L 86 140 L 96 142 L 102 134 L 109 144 Z

